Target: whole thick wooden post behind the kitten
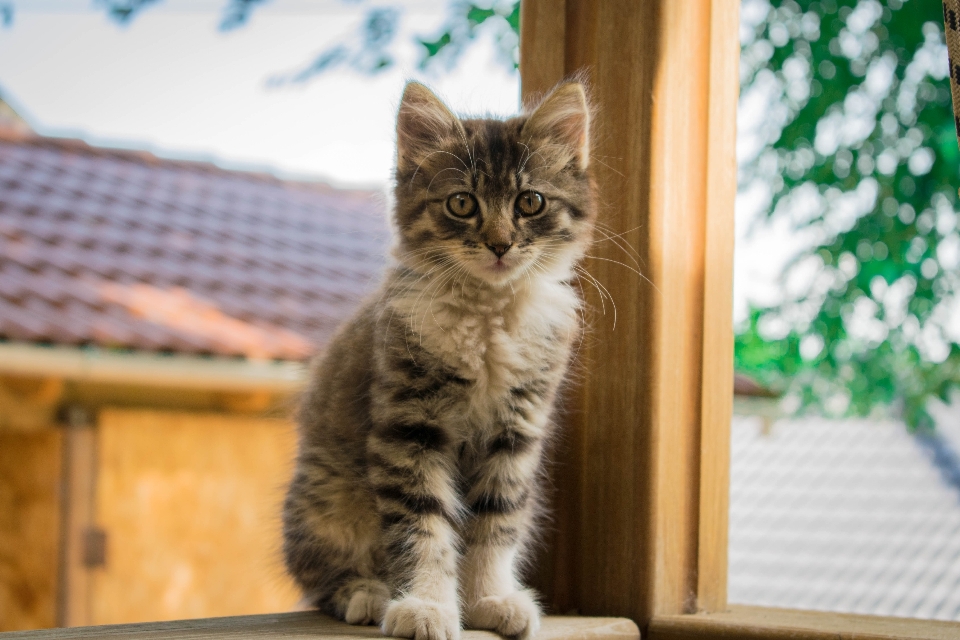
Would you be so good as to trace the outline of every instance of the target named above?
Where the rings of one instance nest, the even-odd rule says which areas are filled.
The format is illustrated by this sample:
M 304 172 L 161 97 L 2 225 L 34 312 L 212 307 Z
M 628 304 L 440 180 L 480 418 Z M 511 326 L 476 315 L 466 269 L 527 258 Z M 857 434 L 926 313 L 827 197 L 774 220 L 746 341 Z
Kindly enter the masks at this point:
M 592 85 L 602 204 L 586 266 L 617 310 L 614 327 L 585 287 L 595 313 L 555 474 L 552 567 L 569 575 L 541 583 L 558 609 L 641 628 L 722 609 L 738 3 L 522 7 L 525 99 L 578 71 Z

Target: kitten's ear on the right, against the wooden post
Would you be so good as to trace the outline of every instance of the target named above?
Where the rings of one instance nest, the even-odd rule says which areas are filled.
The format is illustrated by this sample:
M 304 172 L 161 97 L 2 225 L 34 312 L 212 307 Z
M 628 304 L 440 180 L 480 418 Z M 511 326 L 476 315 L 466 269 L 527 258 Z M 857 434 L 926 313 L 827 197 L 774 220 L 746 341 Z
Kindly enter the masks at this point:
M 566 146 L 579 167 L 586 169 L 590 163 L 590 105 L 583 85 L 567 82 L 554 89 L 530 114 L 523 136 Z

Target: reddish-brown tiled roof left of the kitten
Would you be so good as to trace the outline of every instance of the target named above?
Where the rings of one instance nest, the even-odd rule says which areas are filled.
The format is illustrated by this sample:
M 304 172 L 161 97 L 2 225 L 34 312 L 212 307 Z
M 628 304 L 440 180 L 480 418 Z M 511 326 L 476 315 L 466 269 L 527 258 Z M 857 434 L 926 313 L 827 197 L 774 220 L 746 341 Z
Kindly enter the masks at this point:
M 0 340 L 304 359 L 387 240 L 378 192 L 0 132 Z

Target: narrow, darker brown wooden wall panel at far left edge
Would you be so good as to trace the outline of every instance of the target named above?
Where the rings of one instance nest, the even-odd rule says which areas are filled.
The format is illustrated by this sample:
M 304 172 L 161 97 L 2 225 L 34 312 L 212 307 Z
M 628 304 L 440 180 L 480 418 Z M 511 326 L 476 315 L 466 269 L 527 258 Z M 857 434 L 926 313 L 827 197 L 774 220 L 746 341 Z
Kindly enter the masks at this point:
M 0 432 L 0 631 L 56 625 L 61 432 Z

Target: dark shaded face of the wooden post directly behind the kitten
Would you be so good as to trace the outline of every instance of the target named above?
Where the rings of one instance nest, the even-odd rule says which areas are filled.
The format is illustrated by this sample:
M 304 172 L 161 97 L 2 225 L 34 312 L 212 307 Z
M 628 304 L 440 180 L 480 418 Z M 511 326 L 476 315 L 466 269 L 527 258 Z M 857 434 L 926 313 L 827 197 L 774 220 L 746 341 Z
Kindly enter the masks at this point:
M 589 339 L 580 351 L 582 383 L 568 422 L 571 460 L 579 483 L 577 509 L 567 524 L 576 540 L 571 608 L 587 614 L 645 618 L 652 591 L 653 380 L 650 363 L 656 289 L 651 278 L 649 200 L 657 3 L 568 3 L 565 64 L 583 69 L 598 105 L 593 171 L 600 191 L 600 223 L 623 234 L 643 277 L 612 242 L 599 241 L 586 263 L 617 304 L 584 287 L 593 309 Z M 638 28 L 649 25 L 650 28 Z M 618 49 L 616 53 L 614 49 Z M 523 54 L 521 53 L 521 56 Z M 603 237 L 603 232 L 598 238 Z M 648 616 L 646 616 L 648 617 Z M 642 623 L 641 623 L 642 626 Z

